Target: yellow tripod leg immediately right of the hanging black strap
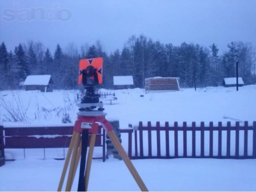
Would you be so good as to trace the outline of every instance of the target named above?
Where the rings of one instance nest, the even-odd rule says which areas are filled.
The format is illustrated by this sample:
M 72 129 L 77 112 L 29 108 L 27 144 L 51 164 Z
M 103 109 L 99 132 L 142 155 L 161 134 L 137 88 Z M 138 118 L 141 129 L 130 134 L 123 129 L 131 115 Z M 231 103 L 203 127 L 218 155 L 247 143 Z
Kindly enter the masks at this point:
M 90 177 L 90 170 L 92 165 L 92 154 L 94 150 L 95 140 L 96 140 L 96 134 L 92 133 L 90 138 L 89 153 L 87 157 L 87 164 L 86 164 L 86 170 L 85 170 L 85 191 L 87 191 L 88 189 L 88 182 Z

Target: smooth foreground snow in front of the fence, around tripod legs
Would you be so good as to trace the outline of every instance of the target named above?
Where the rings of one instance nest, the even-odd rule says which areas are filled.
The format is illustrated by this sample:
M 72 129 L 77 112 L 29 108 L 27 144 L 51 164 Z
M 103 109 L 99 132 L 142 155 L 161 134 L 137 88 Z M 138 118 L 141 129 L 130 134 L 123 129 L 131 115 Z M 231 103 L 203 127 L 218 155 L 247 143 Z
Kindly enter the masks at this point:
M 149 191 L 255 191 L 255 160 L 132 160 Z M 55 191 L 64 160 L 26 158 L 0 167 L 1 191 Z M 62 190 L 65 189 L 65 184 Z M 77 190 L 78 171 L 72 191 Z M 140 191 L 123 161 L 92 160 L 88 191 Z

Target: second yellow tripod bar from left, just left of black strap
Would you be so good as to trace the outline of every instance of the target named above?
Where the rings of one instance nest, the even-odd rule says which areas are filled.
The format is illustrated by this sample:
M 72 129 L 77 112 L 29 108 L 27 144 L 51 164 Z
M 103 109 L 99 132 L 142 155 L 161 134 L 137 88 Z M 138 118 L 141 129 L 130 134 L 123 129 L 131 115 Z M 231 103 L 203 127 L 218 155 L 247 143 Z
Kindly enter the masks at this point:
M 71 190 L 71 183 L 72 183 L 72 178 L 74 175 L 76 155 L 77 155 L 77 151 L 78 151 L 78 145 L 80 144 L 80 140 L 81 140 L 80 136 L 81 136 L 81 133 L 75 132 L 75 134 L 74 134 L 74 137 L 75 137 L 74 138 L 74 150 L 73 150 L 73 154 L 72 154 L 72 158 L 71 158 L 71 162 L 70 162 L 70 168 L 69 168 L 69 172 L 68 172 L 68 180 L 67 180 L 65 191 Z

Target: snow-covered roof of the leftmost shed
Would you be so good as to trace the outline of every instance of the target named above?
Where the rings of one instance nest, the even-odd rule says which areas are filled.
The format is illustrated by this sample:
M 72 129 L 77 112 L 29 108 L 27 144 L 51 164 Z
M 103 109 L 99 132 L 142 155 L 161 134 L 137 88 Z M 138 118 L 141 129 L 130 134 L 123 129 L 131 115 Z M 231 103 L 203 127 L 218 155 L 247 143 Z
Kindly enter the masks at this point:
M 23 85 L 48 85 L 50 79 L 50 75 L 29 75 Z

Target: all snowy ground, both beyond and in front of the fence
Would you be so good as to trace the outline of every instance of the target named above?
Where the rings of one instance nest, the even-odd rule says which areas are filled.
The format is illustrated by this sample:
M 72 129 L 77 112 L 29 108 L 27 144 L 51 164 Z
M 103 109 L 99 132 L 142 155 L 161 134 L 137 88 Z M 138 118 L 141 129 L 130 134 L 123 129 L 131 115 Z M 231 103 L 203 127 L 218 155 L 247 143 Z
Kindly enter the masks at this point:
M 120 120 L 120 128 L 139 121 L 153 124 L 160 121 L 170 124 L 177 121 L 195 121 L 206 124 L 213 121 L 230 121 L 234 124 L 256 120 L 256 85 L 236 88 L 207 87 L 183 89 L 180 92 L 145 93 L 142 89 L 101 90 L 115 92 L 118 100 L 103 99 L 108 120 Z M 0 124 L 30 126 L 61 124 L 69 114 L 71 124 L 76 120 L 76 103 L 79 91 L 56 90 L 52 93 L 37 91 L 1 91 Z M 144 97 L 140 97 L 140 95 Z M 8 106 L 10 106 L 8 108 Z M 9 112 L 8 112 L 9 110 Z M 19 116 L 13 121 L 11 114 Z M 126 149 L 127 142 L 123 142 Z M 48 150 L 48 149 L 46 149 Z M 64 165 L 64 160 L 54 160 L 63 149 L 46 152 L 42 149 L 6 150 L 6 157 L 16 158 L 0 167 L 0 191 L 55 191 Z M 96 149 L 96 156 L 100 148 Z M 152 153 L 155 153 L 152 152 Z M 218 159 L 148 159 L 132 160 L 150 191 L 256 191 L 256 160 Z M 72 190 L 77 190 L 78 174 Z M 62 188 L 63 190 L 63 188 Z M 92 161 L 89 191 L 139 191 L 123 161 L 109 159 Z

